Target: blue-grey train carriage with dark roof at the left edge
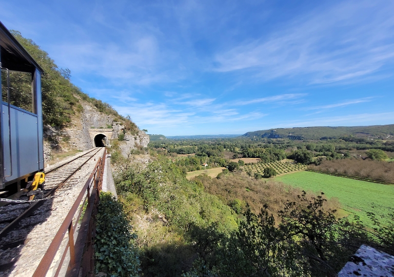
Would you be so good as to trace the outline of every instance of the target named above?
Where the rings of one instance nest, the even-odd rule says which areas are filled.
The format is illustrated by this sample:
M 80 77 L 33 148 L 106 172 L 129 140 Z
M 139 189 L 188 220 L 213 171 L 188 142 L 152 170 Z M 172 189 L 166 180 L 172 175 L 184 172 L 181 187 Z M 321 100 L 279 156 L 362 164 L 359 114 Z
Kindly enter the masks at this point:
M 43 69 L 0 22 L 0 197 L 44 171 Z

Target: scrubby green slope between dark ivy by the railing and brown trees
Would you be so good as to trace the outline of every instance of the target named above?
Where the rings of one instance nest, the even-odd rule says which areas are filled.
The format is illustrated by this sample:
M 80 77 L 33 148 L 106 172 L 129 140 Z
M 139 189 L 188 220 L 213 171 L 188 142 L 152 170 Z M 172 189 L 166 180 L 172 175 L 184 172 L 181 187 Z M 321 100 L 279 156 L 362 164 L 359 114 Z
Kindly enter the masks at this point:
M 189 182 L 167 157 L 156 156 L 143 169 L 127 166 L 115 183 L 129 215 L 134 220 L 151 219 L 133 223 L 147 226 L 137 229 L 144 274 L 174 276 L 189 269 L 185 262 L 195 256 L 187 235 L 191 226 L 206 228 L 220 222 L 221 232 L 238 227 L 229 206 L 205 192 L 200 182 Z

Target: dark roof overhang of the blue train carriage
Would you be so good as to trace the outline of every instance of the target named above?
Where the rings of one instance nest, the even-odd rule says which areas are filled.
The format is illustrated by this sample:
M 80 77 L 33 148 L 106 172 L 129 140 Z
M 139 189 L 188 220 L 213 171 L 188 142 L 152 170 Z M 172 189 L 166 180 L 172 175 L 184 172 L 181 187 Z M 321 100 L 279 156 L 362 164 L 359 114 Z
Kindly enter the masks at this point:
M 44 72 L 2 22 L 0 22 L 0 58 L 2 67 L 9 70 L 33 73 L 37 68 L 41 73 Z

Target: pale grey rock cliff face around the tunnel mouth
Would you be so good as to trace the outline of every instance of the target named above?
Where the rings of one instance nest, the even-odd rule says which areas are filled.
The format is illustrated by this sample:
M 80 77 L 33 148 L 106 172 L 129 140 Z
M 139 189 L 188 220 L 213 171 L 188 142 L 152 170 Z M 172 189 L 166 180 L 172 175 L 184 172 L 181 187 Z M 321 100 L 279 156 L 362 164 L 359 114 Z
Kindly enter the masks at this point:
M 109 139 L 119 137 L 123 133 L 124 126 L 114 122 L 114 116 L 100 112 L 90 103 L 83 103 L 83 111 L 71 118 L 69 126 L 62 130 L 56 130 L 50 126 L 44 128 L 44 160 L 51 160 L 52 151 L 62 152 L 69 149 L 88 150 L 94 147 L 94 135 L 105 129 L 105 135 Z M 108 129 L 112 129 L 111 137 L 108 137 Z M 94 133 L 93 133 L 94 131 Z M 121 142 L 122 153 L 127 156 L 131 149 L 139 146 L 147 147 L 149 135 L 140 131 L 137 135 L 125 134 Z

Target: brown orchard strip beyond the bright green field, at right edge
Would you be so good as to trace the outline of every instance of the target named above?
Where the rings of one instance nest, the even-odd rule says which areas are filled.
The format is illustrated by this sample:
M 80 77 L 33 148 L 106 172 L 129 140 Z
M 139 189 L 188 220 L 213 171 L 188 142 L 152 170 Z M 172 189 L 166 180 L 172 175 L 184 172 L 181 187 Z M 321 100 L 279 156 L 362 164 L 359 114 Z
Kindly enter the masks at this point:
M 323 161 L 320 165 L 310 165 L 311 170 L 346 174 L 394 183 L 394 163 L 360 159 Z

